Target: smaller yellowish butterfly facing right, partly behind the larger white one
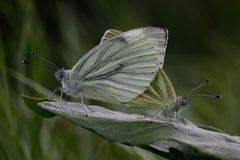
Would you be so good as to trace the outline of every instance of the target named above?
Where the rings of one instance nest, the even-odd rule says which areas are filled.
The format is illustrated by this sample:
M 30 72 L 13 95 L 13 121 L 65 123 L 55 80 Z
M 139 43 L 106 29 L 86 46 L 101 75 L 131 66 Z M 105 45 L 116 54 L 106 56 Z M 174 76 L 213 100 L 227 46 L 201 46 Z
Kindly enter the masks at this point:
M 173 117 L 175 125 L 176 117 L 181 117 L 181 111 L 187 109 L 189 102 L 189 96 L 176 96 L 167 74 L 160 68 L 148 89 L 125 105 L 138 108 L 148 115 L 154 115 L 158 111 L 154 117 L 170 119 Z

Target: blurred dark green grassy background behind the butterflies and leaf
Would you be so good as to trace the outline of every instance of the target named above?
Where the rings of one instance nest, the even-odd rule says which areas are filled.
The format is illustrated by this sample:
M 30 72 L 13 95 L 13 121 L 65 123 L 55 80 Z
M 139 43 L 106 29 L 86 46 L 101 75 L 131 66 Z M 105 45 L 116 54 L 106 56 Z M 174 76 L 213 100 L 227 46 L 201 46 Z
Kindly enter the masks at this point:
M 207 78 L 201 93 L 223 95 L 193 98 L 185 117 L 240 135 L 239 0 L 1 0 L 0 159 L 161 159 L 62 118 L 41 118 L 21 98 L 22 93 L 50 96 L 60 86 L 51 68 L 20 64 L 30 51 L 71 68 L 105 30 L 144 26 L 169 30 L 164 69 L 178 95 Z

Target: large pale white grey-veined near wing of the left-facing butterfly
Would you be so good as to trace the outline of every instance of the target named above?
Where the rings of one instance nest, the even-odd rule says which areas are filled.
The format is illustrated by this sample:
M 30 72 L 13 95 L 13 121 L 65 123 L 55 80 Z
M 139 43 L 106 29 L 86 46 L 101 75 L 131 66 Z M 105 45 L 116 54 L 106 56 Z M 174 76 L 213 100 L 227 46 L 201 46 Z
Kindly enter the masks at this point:
M 162 67 L 167 35 L 166 29 L 146 27 L 105 38 L 70 70 L 70 79 L 128 102 L 148 88 Z

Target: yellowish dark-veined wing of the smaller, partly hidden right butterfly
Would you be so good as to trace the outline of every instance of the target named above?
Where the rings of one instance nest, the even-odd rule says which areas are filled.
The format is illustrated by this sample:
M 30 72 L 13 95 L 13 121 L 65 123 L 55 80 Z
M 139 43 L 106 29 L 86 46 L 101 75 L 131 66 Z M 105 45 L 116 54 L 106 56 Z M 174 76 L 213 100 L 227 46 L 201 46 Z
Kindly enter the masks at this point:
M 157 76 L 150 84 L 149 88 L 135 99 L 126 103 L 131 107 L 153 107 L 159 110 L 161 106 L 171 106 L 176 102 L 177 96 L 175 90 L 171 84 L 171 81 L 167 77 L 163 69 L 159 69 Z M 148 107 L 146 107 L 148 106 Z

